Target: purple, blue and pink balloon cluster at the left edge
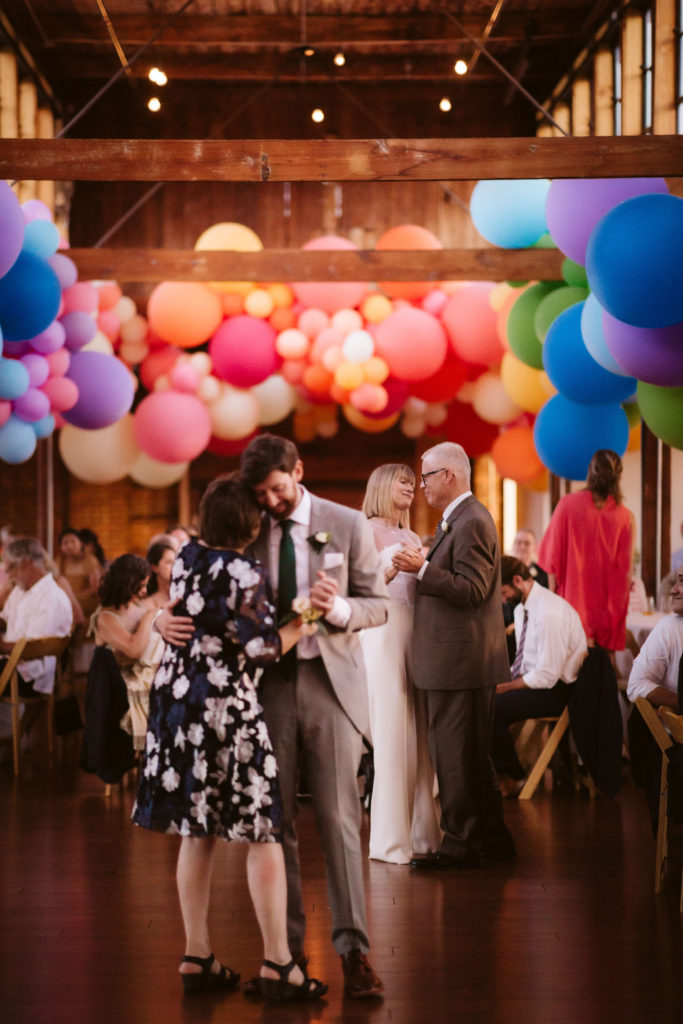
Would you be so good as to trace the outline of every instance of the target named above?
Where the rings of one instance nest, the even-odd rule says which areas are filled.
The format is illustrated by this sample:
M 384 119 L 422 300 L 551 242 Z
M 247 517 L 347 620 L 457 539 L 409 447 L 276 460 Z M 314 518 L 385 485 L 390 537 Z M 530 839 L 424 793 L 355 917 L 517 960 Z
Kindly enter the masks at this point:
M 134 380 L 90 351 L 98 293 L 78 281 L 49 209 L 0 181 L 0 460 L 22 463 L 63 423 L 94 428 L 130 409 Z

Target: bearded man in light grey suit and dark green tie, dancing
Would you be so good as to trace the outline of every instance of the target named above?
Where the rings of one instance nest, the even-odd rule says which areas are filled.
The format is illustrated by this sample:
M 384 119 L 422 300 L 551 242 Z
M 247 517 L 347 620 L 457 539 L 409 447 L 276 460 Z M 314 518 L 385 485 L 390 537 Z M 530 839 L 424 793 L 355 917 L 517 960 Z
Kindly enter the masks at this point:
M 319 630 L 299 641 L 265 673 L 261 684 L 268 732 L 280 768 L 283 849 L 288 884 L 288 932 L 301 957 L 305 914 L 295 829 L 300 773 L 305 773 L 323 838 L 332 908 L 332 941 L 341 954 L 344 990 L 379 995 L 382 982 L 369 948 L 356 775 L 369 732 L 366 671 L 358 630 L 386 621 L 388 595 L 368 522 L 359 512 L 316 498 L 301 485 L 303 464 L 292 441 L 272 434 L 245 449 L 241 475 L 264 510 L 250 554 L 267 566 L 279 614 L 290 593 L 308 596 L 323 616 Z M 287 553 L 289 551 L 289 554 Z M 289 559 L 289 561 L 288 561 Z M 296 575 L 296 580 L 294 580 Z

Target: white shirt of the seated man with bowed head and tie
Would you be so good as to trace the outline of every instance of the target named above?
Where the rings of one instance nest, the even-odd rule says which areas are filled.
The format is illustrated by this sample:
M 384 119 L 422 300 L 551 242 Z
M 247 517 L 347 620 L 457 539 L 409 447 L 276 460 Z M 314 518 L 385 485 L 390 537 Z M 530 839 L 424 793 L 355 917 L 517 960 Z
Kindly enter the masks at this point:
M 521 679 L 531 689 L 552 689 L 558 680 L 573 683 L 588 645 L 579 613 L 568 601 L 538 583 L 525 602 L 515 606 L 515 636 L 521 636 L 528 612 Z

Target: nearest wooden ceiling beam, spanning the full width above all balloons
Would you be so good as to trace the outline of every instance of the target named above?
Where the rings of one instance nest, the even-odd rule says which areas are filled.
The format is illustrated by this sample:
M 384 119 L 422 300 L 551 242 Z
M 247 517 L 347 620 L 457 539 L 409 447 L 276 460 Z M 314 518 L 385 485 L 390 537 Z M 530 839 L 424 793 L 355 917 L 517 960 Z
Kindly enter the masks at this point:
M 0 177 L 54 181 L 467 181 L 678 176 L 683 136 L 4 139 Z

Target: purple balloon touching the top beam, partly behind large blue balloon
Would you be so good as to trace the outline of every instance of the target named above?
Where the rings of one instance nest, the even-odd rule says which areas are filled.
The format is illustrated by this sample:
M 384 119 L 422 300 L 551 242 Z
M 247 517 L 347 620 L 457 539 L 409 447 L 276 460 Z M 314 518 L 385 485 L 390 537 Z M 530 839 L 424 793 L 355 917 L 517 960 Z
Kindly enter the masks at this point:
M 546 201 L 553 242 L 574 263 L 586 263 L 586 246 L 600 217 L 634 196 L 668 193 L 664 178 L 556 178 Z

